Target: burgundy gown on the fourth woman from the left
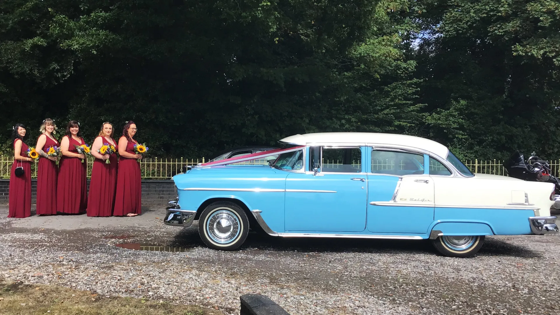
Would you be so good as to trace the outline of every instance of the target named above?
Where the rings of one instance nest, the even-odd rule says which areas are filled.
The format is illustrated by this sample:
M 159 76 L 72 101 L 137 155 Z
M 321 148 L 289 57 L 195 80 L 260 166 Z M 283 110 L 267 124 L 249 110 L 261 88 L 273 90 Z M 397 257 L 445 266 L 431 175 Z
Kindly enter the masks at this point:
M 101 137 L 103 143 L 110 143 L 107 138 Z M 119 150 L 115 140 L 115 149 Z M 87 216 L 111 216 L 115 205 L 116 168 L 118 161 L 116 153 L 109 155 L 110 164 L 104 160 L 95 159 L 91 170 L 90 194 L 87 197 Z

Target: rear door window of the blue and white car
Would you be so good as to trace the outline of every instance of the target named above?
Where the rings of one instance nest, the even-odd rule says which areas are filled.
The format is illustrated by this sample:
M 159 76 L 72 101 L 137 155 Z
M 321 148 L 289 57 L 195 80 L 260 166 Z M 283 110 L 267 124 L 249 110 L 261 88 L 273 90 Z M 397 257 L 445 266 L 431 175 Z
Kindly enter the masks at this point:
M 376 174 L 424 174 L 424 156 L 412 152 L 371 150 L 371 172 Z

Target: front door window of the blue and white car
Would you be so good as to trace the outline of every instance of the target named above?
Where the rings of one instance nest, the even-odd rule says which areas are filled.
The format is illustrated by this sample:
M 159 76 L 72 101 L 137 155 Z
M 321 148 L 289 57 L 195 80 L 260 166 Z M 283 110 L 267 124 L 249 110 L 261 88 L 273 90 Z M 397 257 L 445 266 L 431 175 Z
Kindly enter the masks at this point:
M 360 173 L 362 172 L 362 150 L 359 147 L 323 147 L 321 172 Z M 313 155 L 311 156 L 313 158 Z

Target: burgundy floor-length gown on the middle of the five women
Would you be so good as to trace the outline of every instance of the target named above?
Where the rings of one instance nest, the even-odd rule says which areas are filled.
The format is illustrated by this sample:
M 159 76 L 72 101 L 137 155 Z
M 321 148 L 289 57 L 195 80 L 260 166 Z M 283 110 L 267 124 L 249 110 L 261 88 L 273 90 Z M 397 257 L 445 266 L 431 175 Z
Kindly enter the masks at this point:
M 68 151 L 78 154 L 76 146 L 85 144 L 69 136 Z M 82 214 L 87 208 L 87 161 L 70 156 L 63 156 L 60 160 L 57 184 L 57 211 L 64 214 Z

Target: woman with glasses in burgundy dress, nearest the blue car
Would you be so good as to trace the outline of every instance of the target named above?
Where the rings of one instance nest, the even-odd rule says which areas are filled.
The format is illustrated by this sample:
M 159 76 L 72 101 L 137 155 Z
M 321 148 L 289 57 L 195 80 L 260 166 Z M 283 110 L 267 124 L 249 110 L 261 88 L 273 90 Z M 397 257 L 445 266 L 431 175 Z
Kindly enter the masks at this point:
M 123 136 L 119 139 L 119 171 L 116 179 L 115 216 L 137 216 L 141 214 L 142 178 L 140 175 L 141 154 L 134 152 L 133 139 L 136 135 L 136 124 L 129 121 L 124 126 Z

